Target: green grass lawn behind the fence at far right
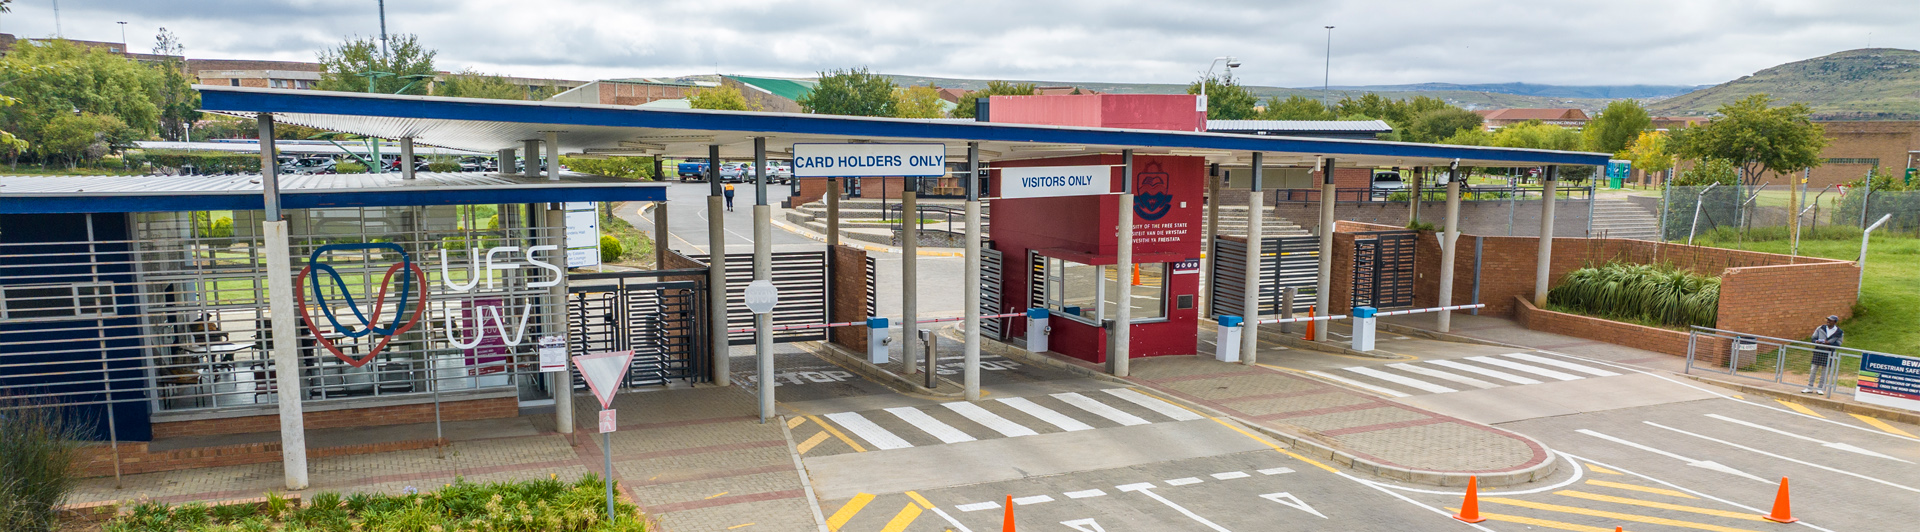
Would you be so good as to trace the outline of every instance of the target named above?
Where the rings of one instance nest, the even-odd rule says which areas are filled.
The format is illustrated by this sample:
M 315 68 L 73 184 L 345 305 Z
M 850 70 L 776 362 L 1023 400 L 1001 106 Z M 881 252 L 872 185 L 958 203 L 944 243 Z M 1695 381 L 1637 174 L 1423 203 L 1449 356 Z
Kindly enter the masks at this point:
M 1701 240 L 1697 244 L 1753 252 L 1786 254 L 1788 240 Z M 1860 240 L 1801 240 L 1801 255 L 1828 259 L 1859 259 Z M 1866 278 L 1853 317 L 1839 326 L 1847 330 L 1847 348 L 1920 355 L 1920 238 L 1907 234 L 1874 234 L 1866 254 Z M 1809 323 L 1807 330 L 1818 323 Z M 1805 340 L 1805 338 L 1795 338 Z

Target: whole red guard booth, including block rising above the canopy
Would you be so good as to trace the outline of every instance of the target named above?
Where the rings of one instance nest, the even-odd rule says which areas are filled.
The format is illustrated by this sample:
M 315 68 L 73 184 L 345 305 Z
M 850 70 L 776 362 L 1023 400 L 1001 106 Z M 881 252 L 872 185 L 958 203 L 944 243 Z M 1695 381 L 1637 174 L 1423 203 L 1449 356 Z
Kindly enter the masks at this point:
M 1091 125 L 1200 131 L 1206 111 L 1196 96 L 1087 94 L 993 96 L 996 123 Z M 1119 198 L 1000 198 L 1000 169 L 1106 165 L 1112 188 L 1133 181 L 1131 213 Z M 1206 207 L 1206 159 L 1196 156 L 1135 154 L 1123 175 L 1119 154 L 1000 159 L 993 163 L 993 250 L 1000 252 L 1004 311 L 1046 307 L 1052 313 L 1052 351 L 1104 363 L 1108 330 L 1119 303 L 1133 305 L 1133 357 L 1192 355 L 1198 334 L 1200 225 Z M 1117 271 L 1119 217 L 1133 217 L 1135 269 Z M 1025 321 L 1008 323 L 1010 338 Z

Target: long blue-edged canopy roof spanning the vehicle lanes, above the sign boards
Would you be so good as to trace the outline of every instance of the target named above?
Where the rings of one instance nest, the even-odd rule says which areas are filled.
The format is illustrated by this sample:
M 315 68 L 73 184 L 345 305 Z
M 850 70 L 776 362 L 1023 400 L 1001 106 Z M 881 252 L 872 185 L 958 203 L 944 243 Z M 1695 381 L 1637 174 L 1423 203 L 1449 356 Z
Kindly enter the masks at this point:
M 563 154 L 682 156 L 705 157 L 720 144 L 722 157 L 751 157 L 753 138 L 766 136 L 772 156 L 791 156 L 795 142 L 941 142 L 950 156 L 966 142 L 981 142 L 983 159 L 1031 159 L 1050 156 L 1139 154 L 1204 156 L 1235 163 L 1265 152 L 1267 163 L 1311 165 L 1317 156 L 1342 167 L 1461 165 L 1605 165 L 1607 154 L 1521 148 L 1407 144 L 1380 140 L 1246 136 L 1100 127 L 1050 127 L 1016 123 L 952 123 L 845 115 L 801 115 L 708 109 L 645 109 L 597 104 L 513 102 L 480 98 L 394 96 L 288 88 L 196 85 L 205 111 L 275 113 L 276 121 L 405 138 L 457 150 L 493 152 L 520 148 L 559 133 Z

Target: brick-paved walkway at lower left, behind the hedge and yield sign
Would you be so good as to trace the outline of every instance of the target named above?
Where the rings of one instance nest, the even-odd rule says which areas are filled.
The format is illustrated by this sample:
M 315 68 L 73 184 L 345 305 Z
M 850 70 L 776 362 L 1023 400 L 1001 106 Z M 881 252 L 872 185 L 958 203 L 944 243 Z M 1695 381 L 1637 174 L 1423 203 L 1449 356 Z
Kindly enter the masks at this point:
M 795 467 L 781 424 L 760 424 L 751 390 L 660 388 L 614 399 L 620 430 L 612 434 L 614 478 L 626 497 L 659 522 L 660 530 L 820 530 L 804 480 Z M 540 476 L 578 478 L 603 471 L 597 424 L 599 403 L 574 398 L 576 432 L 553 430 L 553 415 L 528 415 L 532 436 L 476 438 L 442 449 L 309 459 L 311 486 L 319 492 L 432 490 L 468 482 Z M 432 438 L 432 424 L 422 426 Z M 86 478 L 69 503 L 96 501 L 209 501 L 284 492 L 280 463 L 207 467 L 113 478 Z M 737 526 L 737 528 L 735 528 Z

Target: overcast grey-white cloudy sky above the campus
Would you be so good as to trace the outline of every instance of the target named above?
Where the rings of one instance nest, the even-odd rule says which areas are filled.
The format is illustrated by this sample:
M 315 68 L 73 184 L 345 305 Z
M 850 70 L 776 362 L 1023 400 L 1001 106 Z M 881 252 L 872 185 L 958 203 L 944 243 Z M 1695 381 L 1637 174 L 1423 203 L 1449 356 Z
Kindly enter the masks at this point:
M 0 33 L 54 35 L 54 0 L 15 0 Z M 313 61 L 380 33 L 376 0 L 63 0 L 67 38 L 190 58 Z M 1248 85 L 1716 85 L 1866 48 L 1920 48 L 1914 0 L 386 0 L 457 71 L 561 79 L 881 73 L 1187 83 L 1235 56 Z

